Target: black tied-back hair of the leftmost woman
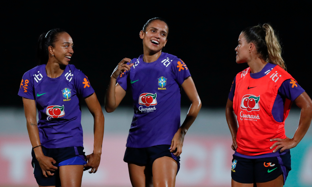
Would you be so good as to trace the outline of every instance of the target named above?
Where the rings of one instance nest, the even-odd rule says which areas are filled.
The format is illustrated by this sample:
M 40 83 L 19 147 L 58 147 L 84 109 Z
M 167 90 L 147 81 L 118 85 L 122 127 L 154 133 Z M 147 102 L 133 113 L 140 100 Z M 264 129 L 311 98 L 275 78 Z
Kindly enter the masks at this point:
M 66 31 L 63 29 L 52 29 L 49 32 L 42 33 L 39 36 L 37 44 L 37 57 L 39 65 L 47 63 L 49 59 L 48 47 L 55 47 L 55 42 L 57 41 L 58 36 L 63 32 Z

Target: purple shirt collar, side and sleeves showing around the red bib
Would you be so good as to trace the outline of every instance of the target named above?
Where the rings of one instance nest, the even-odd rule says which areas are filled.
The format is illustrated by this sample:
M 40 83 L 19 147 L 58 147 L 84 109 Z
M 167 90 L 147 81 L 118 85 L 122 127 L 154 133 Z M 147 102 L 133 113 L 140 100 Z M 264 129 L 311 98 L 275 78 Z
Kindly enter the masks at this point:
M 275 64 L 267 63 L 264 68 L 257 73 L 250 73 L 251 78 L 259 79 L 266 75 L 269 70 L 273 70 Z M 229 99 L 233 101 L 234 93 L 235 93 L 235 85 L 236 85 L 236 77 L 234 78 L 231 91 L 229 93 Z M 278 89 L 277 96 L 275 98 L 273 108 L 272 108 L 272 115 L 275 121 L 282 122 L 284 117 L 284 103 L 285 98 L 288 98 L 292 102 L 305 90 L 301 88 L 301 86 L 291 79 L 285 80 L 280 88 Z

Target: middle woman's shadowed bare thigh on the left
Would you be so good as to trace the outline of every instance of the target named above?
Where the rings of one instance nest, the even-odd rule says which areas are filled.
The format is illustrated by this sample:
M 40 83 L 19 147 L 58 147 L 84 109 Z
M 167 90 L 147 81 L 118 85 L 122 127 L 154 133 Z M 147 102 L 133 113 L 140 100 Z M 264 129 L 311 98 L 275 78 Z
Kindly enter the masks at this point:
M 145 165 L 128 163 L 129 177 L 133 187 L 152 187 L 151 169 Z

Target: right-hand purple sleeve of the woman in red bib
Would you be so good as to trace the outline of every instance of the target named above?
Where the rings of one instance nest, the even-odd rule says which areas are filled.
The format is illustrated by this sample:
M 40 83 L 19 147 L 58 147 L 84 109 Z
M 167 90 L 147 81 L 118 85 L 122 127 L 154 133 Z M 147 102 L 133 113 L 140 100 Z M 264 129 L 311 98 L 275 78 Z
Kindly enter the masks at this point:
M 282 85 L 280 85 L 278 92 L 280 95 L 288 98 L 291 102 L 294 102 L 301 93 L 305 92 L 305 90 L 294 79 L 287 79 Z

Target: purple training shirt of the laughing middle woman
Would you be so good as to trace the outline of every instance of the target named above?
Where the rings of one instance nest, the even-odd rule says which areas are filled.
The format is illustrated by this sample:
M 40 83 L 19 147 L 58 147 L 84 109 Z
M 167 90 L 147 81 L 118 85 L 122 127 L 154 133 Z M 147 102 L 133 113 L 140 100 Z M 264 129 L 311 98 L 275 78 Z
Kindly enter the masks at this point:
M 143 55 L 117 78 L 117 83 L 132 92 L 134 116 L 127 147 L 143 148 L 171 144 L 180 127 L 181 85 L 191 76 L 185 63 L 163 53 L 158 60 L 146 63 Z M 128 63 L 129 64 L 129 63 Z

